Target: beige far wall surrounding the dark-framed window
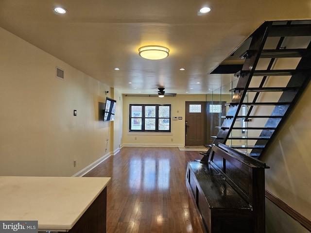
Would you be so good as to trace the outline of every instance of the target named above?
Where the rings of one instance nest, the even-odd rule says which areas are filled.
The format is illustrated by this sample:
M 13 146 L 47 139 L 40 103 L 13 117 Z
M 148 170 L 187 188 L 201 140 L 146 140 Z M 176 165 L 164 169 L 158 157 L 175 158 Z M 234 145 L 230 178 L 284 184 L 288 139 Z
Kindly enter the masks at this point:
M 158 97 L 123 97 L 123 146 L 183 146 L 185 144 L 185 102 L 205 101 L 206 95 L 177 95 Z M 182 116 L 182 120 L 172 120 L 171 133 L 129 132 L 129 104 L 152 103 L 172 104 L 172 117 Z M 136 139 L 135 139 L 136 138 Z M 173 140 L 173 141 L 172 141 Z

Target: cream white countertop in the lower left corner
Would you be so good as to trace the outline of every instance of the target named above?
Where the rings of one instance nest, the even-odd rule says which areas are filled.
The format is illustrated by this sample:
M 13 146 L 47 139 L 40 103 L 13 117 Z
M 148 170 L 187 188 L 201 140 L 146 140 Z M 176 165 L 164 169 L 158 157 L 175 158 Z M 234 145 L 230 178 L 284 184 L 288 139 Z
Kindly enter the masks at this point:
M 38 220 L 39 231 L 66 232 L 110 179 L 0 176 L 0 220 Z

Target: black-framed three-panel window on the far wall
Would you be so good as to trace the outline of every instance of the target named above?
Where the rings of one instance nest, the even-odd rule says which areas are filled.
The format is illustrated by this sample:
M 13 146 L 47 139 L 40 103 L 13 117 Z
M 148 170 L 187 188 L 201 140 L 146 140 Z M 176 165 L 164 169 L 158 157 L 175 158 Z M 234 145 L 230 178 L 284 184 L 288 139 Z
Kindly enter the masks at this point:
M 130 104 L 129 131 L 171 132 L 171 104 Z

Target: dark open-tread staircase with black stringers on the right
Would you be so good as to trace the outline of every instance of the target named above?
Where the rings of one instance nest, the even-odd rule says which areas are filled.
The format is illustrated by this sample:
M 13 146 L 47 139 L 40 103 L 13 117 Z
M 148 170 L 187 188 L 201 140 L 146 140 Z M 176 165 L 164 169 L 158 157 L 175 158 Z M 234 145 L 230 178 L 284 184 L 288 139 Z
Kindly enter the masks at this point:
M 289 38 L 293 37 L 302 38 L 306 45 L 292 43 L 287 46 Z M 228 145 L 228 142 L 245 140 L 244 145 L 228 146 L 260 159 L 310 82 L 311 22 L 263 23 L 251 35 L 249 49 L 241 59 L 244 59 L 242 70 L 234 74 L 239 78 L 238 83 L 230 90 L 232 101 L 225 104 L 226 116 L 222 116 L 222 125 L 216 127 L 219 131 L 213 136 L 212 144 Z M 288 64 L 288 67 L 279 64 Z M 264 115 L 260 114 L 260 108 L 266 110 L 261 111 Z M 266 114 L 267 109 L 271 109 L 271 114 Z M 236 130 L 244 135 L 236 136 Z M 209 150 L 202 154 L 205 156 L 201 162 L 207 162 Z

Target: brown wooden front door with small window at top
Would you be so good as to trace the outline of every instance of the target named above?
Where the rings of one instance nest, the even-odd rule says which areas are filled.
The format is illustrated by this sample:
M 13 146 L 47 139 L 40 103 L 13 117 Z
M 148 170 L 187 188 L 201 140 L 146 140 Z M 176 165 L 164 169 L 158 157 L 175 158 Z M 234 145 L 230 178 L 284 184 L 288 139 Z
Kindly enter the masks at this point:
M 185 146 L 206 144 L 206 102 L 186 101 Z

